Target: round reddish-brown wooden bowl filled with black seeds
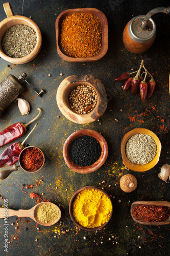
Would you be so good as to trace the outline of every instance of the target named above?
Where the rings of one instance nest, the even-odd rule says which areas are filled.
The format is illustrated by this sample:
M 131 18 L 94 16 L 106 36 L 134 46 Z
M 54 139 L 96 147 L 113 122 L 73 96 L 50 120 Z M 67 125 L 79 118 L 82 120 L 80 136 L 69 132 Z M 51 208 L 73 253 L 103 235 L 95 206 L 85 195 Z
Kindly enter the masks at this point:
M 72 133 L 63 146 L 63 157 L 67 166 L 81 174 L 92 173 L 99 169 L 108 156 L 105 138 L 92 130 Z

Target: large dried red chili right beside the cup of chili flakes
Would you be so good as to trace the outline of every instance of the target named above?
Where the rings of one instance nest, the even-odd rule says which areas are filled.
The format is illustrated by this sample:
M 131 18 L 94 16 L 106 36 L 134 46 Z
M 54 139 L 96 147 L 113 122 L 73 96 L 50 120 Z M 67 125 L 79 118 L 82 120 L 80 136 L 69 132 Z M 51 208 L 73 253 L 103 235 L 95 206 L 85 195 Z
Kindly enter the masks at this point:
M 30 136 L 30 134 L 34 131 L 35 127 L 38 123 L 35 124 L 32 131 L 29 133 L 29 135 L 25 138 L 25 140 L 20 142 L 15 142 L 8 146 L 6 150 L 3 151 L 3 153 L 0 155 L 0 168 L 3 167 L 5 164 L 8 164 L 11 166 L 13 163 L 18 161 L 19 154 L 23 150 L 23 143 L 27 140 L 27 138 Z

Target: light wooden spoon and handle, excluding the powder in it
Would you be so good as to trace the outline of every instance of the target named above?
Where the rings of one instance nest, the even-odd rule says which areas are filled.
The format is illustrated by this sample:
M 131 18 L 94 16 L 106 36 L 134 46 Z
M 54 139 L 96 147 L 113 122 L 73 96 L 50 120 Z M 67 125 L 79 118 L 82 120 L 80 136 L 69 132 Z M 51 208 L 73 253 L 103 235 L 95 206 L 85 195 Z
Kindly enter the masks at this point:
M 48 222 L 48 223 L 42 223 L 41 221 L 38 220 L 37 218 L 37 210 L 39 208 L 40 205 L 42 204 L 51 204 L 51 205 L 55 205 L 57 206 L 56 204 L 53 204 L 51 202 L 42 202 L 42 203 L 39 203 L 37 205 L 35 205 L 33 208 L 29 209 L 29 210 L 12 210 L 12 209 L 8 209 L 8 217 L 11 217 L 11 216 L 17 216 L 17 217 L 29 217 L 31 218 L 32 220 L 34 220 L 35 222 L 37 222 L 38 224 L 40 225 L 43 225 L 43 226 L 52 226 L 54 225 L 55 223 L 57 223 L 60 218 L 61 218 L 61 210 L 60 208 L 58 207 L 58 210 L 59 210 L 59 216 L 57 218 L 57 220 L 53 221 L 53 222 Z M 6 208 L 0 208 L 0 218 L 4 218 L 4 209 Z

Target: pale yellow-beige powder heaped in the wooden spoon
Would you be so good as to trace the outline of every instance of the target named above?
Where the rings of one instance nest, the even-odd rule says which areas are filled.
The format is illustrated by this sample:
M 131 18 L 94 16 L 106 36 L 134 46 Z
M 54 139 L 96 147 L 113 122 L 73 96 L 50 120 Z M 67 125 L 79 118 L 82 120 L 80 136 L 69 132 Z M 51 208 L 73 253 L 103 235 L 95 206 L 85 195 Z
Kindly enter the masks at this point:
M 37 218 L 42 223 L 49 223 L 57 220 L 59 217 L 59 209 L 57 205 L 42 204 L 38 207 Z

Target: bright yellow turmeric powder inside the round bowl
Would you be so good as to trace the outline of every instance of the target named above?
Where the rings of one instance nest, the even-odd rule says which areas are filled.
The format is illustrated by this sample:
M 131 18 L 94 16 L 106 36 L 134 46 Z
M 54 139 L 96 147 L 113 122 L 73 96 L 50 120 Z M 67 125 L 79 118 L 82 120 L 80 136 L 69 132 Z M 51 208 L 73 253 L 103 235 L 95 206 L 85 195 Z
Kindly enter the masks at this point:
M 94 228 L 106 223 L 112 211 L 110 199 L 98 189 L 84 189 L 72 203 L 72 214 L 83 227 Z

